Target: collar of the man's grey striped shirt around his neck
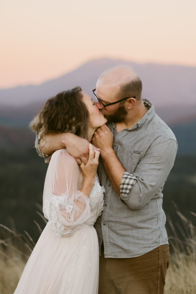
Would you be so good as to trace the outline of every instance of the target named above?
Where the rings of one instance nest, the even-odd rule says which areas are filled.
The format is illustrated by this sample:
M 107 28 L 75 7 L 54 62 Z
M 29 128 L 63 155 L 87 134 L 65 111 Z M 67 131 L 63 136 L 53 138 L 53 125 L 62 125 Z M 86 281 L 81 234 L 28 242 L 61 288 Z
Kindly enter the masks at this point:
M 148 111 L 137 123 L 135 123 L 135 125 L 131 129 L 127 128 L 125 130 L 129 130 L 129 131 L 137 130 L 137 129 L 141 128 L 142 126 L 144 126 L 146 123 L 148 123 L 148 121 L 150 121 L 153 118 L 153 116 L 155 115 L 155 108 L 154 108 L 153 103 L 150 102 L 148 99 L 142 99 L 142 100 L 143 100 L 145 107 L 148 108 Z M 115 123 L 112 123 L 112 124 L 116 128 Z

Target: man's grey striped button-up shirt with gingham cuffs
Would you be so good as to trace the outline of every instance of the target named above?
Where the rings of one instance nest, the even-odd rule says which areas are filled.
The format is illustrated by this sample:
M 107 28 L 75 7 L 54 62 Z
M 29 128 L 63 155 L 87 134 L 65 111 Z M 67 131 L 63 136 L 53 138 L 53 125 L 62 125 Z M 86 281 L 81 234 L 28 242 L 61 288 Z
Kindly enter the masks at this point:
M 114 135 L 113 149 L 125 168 L 120 197 L 99 159 L 98 176 L 105 188 L 104 209 L 95 223 L 99 246 L 106 258 L 131 258 L 168 244 L 163 185 L 173 166 L 177 142 L 171 129 L 155 114 L 154 106 L 131 129 L 118 134 L 115 123 L 107 123 Z M 48 157 L 38 148 L 38 154 Z

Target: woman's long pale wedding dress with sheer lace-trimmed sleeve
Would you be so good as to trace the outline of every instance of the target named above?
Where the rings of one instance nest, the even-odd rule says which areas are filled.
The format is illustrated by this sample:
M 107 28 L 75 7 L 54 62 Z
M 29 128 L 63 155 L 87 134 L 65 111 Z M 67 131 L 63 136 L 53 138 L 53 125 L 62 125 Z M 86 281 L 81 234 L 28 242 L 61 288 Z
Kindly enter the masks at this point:
M 98 293 L 99 245 L 93 225 L 103 209 L 104 188 L 96 178 L 87 197 L 82 184 L 75 159 L 66 149 L 54 152 L 43 191 L 48 223 L 14 294 Z

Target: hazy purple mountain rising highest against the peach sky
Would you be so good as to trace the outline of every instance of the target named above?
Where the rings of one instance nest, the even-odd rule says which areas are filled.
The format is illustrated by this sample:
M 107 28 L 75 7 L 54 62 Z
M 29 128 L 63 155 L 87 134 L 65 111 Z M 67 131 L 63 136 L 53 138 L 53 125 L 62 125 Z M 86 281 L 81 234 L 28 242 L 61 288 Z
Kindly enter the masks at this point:
M 196 67 L 138 64 L 120 59 L 96 59 L 59 78 L 40 85 L 18 86 L 0 89 L 0 105 L 19 106 L 46 101 L 60 91 L 81 86 L 92 95 L 100 74 L 111 66 L 131 66 L 143 81 L 143 98 L 151 100 L 156 107 L 188 106 L 196 107 Z

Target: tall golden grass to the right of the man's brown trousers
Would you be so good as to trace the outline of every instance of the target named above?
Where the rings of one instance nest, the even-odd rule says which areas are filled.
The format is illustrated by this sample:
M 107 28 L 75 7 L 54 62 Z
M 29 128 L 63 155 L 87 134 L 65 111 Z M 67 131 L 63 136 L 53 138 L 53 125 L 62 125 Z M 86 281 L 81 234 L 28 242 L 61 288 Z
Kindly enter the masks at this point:
M 182 226 L 178 229 L 183 236 L 179 240 L 171 221 L 174 237 L 169 238 L 173 253 L 170 255 L 170 264 L 165 280 L 165 294 L 196 294 L 196 227 L 179 211 Z M 196 214 L 192 213 L 195 217 Z

